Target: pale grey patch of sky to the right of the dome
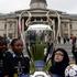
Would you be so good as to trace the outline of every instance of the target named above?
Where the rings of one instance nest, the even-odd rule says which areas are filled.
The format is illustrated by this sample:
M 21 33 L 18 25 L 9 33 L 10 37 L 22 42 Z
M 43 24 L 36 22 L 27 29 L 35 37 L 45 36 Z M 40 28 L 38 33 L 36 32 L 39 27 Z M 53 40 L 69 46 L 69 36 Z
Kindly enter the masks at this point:
M 51 9 L 56 9 L 64 12 L 75 12 L 77 0 L 47 0 Z M 75 9 L 75 10 L 74 10 Z

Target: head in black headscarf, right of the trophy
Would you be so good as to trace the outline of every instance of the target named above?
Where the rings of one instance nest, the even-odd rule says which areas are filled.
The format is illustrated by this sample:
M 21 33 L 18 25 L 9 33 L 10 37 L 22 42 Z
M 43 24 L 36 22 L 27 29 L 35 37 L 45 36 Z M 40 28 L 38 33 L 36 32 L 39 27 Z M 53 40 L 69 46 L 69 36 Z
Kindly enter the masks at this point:
M 57 48 L 52 55 L 52 61 L 55 63 L 69 63 L 69 57 L 65 50 Z

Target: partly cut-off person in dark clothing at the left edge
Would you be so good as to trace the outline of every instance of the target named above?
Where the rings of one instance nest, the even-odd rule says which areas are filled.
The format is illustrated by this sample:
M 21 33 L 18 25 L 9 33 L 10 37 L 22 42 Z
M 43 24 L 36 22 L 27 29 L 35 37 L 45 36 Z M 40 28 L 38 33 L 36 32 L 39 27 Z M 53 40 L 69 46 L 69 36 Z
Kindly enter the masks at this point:
M 0 77 L 4 77 L 4 61 L 6 51 L 8 50 L 7 41 L 4 37 L 0 36 Z

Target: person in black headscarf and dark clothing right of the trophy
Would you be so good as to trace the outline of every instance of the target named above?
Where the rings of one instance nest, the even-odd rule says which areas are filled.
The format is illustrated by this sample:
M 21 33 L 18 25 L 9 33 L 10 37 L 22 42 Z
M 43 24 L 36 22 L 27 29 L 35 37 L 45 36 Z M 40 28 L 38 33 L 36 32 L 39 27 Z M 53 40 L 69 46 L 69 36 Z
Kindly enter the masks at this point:
M 65 77 L 65 68 L 69 65 L 69 57 L 65 50 L 57 48 L 52 54 L 52 66 L 48 73 L 52 77 Z

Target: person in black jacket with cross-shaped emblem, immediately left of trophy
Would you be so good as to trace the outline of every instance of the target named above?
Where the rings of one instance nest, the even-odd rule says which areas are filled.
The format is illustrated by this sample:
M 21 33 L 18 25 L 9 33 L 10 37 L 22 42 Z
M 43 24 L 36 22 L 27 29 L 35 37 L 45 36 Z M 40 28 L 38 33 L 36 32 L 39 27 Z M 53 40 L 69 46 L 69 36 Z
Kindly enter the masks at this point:
M 11 51 L 6 54 L 6 76 L 7 77 L 29 77 L 30 58 L 23 55 L 23 42 L 20 38 L 13 38 Z M 23 76 L 24 75 L 24 76 Z

